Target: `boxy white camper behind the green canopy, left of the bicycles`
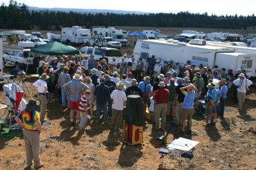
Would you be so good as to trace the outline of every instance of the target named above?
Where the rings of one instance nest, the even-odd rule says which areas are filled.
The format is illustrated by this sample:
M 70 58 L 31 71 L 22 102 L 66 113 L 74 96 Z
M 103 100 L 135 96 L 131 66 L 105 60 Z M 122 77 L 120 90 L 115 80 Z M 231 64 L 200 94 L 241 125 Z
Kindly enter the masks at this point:
M 91 38 L 90 29 L 82 29 L 79 26 L 61 28 L 61 41 L 72 44 L 88 43 Z

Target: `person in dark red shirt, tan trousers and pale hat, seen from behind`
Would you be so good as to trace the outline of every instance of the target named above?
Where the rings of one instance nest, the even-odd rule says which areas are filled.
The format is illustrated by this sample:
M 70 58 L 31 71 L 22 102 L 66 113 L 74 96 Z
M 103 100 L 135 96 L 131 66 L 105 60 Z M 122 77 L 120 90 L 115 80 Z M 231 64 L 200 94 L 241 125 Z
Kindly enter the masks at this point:
M 156 91 L 153 98 L 155 100 L 154 106 L 154 116 L 156 126 L 155 130 L 159 130 L 159 118 L 161 117 L 161 130 L 164 131 L 166 124 L 166 111 L 167 111 L 167 103 L 169 99 L 169 90 L 165 89 L 165 84 L 163 81 L 159 82 L 159 90 Z

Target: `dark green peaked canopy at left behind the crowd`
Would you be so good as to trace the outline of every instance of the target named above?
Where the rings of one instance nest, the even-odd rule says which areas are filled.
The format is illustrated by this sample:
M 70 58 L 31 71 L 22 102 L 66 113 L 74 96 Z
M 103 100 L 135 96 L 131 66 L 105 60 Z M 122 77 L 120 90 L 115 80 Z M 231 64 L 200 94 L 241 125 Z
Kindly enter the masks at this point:
M 63 45 L 57 41 L 31 48 L 31 52 L 42 53 L 46 55 L 72 55 L 79 54 L 79 50 L 67 45 Z

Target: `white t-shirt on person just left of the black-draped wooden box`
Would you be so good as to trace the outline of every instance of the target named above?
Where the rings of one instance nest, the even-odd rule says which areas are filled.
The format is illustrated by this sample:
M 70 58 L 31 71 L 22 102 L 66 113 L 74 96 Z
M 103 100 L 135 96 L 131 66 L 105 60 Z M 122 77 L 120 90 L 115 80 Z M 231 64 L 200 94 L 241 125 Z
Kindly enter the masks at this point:
M 127 100 L 125 93 L 122 90 L 114 90 L 111 95 L 113 99 L 112 108 L 115 110 L 124 110 L 124 101 Z

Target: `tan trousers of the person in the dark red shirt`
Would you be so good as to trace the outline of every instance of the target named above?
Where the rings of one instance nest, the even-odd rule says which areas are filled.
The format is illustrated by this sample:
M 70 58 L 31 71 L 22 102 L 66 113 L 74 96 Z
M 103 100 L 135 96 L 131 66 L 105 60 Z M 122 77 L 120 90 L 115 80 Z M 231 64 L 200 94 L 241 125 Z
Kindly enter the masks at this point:
M 161 117 L 161 129 L 165 129 L 166 124 L 166 111 L 167 111 L 167 104 L 161 103 L 156 104 L 154 107 L 154 115 L 155 115 L 155 129 L 159 129 L 159 118 Z

